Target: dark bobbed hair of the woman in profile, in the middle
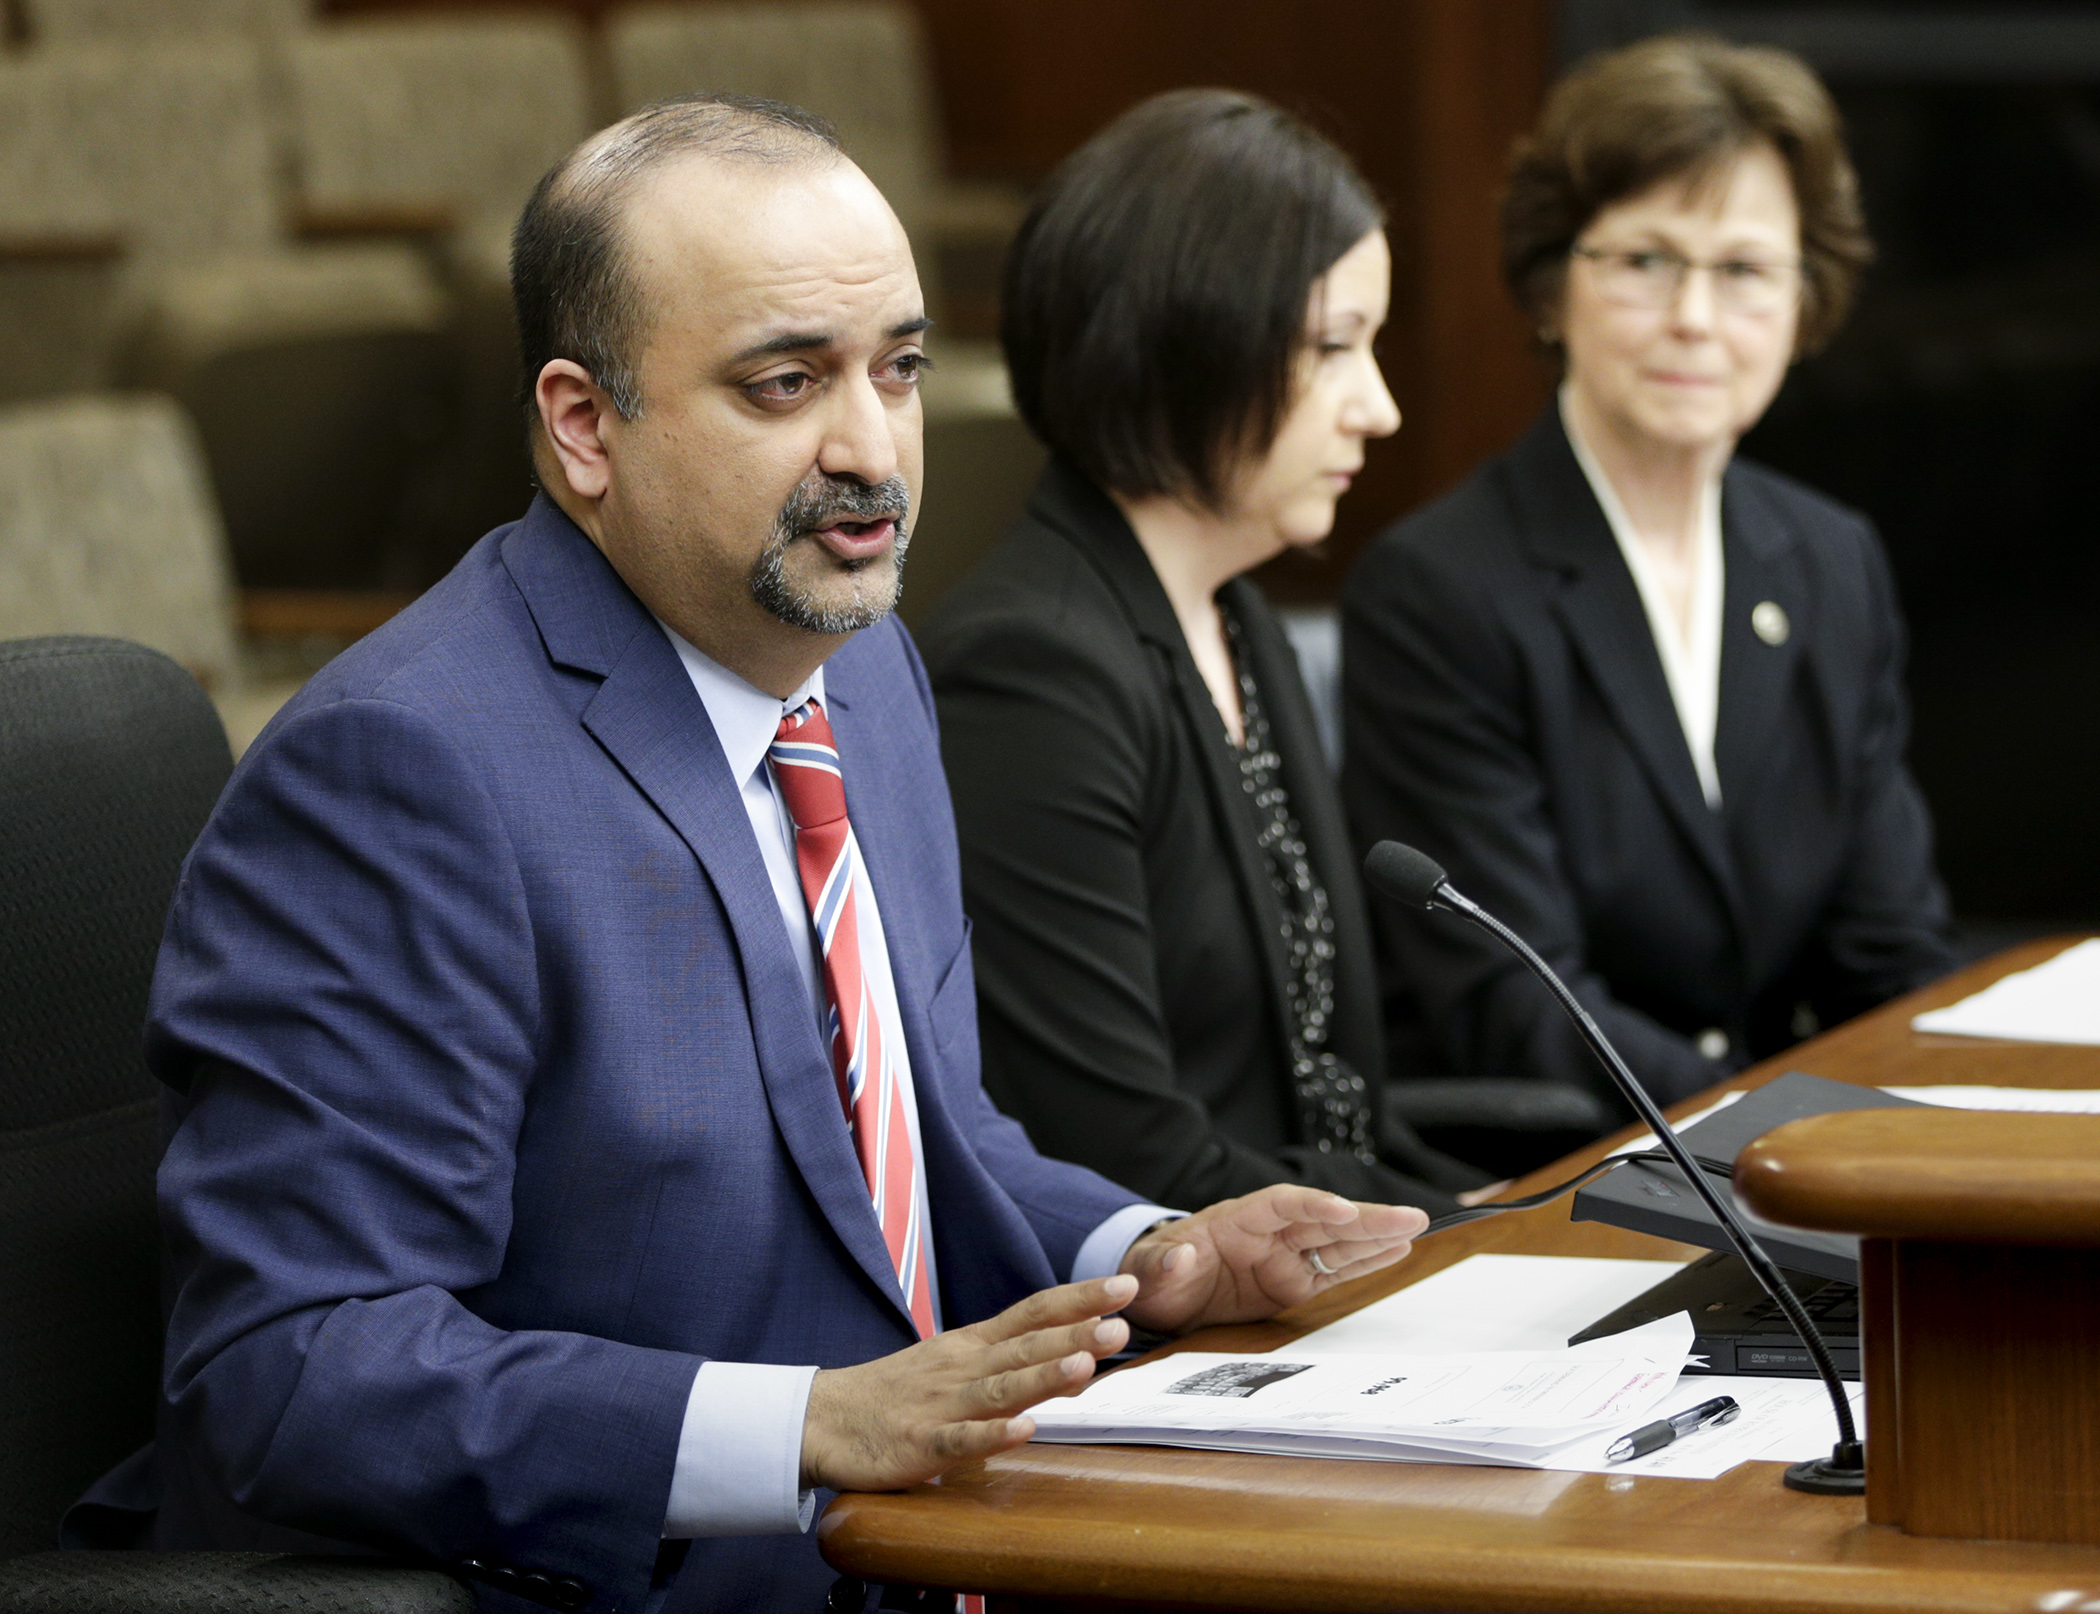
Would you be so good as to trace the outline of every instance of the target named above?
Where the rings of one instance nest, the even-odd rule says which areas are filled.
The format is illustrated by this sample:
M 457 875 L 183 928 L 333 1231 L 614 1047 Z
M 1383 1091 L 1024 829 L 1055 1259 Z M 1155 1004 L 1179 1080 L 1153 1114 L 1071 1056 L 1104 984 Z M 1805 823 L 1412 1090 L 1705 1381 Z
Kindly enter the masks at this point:
M 1142 101 L 1044 183 L 1006 258 L 1021 418 L 1098 487 L 1218 510 L 1289 411 L 1312 283 L 1384 222 L 1350 160 L 1281 107 Z

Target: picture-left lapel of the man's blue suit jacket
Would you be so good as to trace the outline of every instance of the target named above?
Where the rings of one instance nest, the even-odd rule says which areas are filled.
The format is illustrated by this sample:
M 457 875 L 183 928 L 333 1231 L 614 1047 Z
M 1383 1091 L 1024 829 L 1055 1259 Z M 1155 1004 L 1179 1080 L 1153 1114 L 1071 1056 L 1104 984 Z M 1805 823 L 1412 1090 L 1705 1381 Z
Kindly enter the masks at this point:
M 832 1060 L 708 707 L 664 632 L 590 539 L 546 500 L 536 500 L 504 560 L 550 655 L 603 674 L 584 707 L 584 728 L 678 831 L 720 896 L 743 968 L 773 1125 L 832 1230 L 909 1329 L 897 1268 L 838 1106 Z

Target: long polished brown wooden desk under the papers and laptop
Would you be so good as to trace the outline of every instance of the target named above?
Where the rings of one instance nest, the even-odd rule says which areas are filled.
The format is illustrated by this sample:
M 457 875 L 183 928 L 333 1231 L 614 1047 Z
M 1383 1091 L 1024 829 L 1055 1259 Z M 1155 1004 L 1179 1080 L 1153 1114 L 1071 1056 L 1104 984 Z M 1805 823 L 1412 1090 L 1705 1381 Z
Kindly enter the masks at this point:
M 1922 1037 L 1913 1014 L 2039 963 L 2071 938 L 2012 949 L 1745 1070 L 1869 1085 L 2096 1087 L 2100 1047 Z M 1688 1100 L 1674 1114 L 1712 1102 Z M 1609 1144 L 1520 1184 L 1558 1182 Z M 1275 1350 L 1478 1251 L 1690 1259 L 1567 1203 L 1453 1228 L 1401 1268 L 1277 1322 L 1214 1329 L 1184 1350 Z M 2100 1371 L 2100 1364 L 2096 1364 Z M 1871 1440 L 1871 1429 L 1869 1429 Z M 1054 1610 L 1508 1610 L 1823 1614 L 2029 1610 L 2100 1614 L 2100 1547 L 1922 1541 L 1865 1520 L 1856 1496 L 1804 1496 L 1777 1463 L 1720 1480 L 1233 1457 L 1155 1446 L 1023 1446 L 884 1496 L 840 1496 L 823 1555 L 867 1580 L 1006 1593 Z

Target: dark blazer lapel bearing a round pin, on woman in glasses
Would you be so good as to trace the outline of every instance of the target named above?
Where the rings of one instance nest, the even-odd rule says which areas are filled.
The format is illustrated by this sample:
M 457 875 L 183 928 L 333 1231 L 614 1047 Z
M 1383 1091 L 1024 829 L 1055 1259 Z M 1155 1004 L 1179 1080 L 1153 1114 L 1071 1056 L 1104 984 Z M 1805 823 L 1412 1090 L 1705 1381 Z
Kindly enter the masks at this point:
M 1791 529 L 1745 476 L 1728 474 L 1722 481 L 1728 596 L 1722 604 L 1714 768 L 1720 772 L 1724 812 L 1737 795 L 1747 793 L 1747 783 L 1758 772 L 1814 628 L 1808 590 L 1791 556 L 1793 541 Z M 1766 607 L 1777 607 L 1777 615 Z M 1758 632 L 1758 621 L 1764 623 L 1764 634 Z

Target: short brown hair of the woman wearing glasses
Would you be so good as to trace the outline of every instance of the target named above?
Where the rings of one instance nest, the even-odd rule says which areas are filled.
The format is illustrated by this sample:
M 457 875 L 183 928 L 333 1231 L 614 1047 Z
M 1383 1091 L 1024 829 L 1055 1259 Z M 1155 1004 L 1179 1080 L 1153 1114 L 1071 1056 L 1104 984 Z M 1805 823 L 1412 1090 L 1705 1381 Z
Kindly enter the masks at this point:
M 1800 57 L 1770 46 L 1663 34 L 1590 57 L 1562 78 L 1510 157 L 1504 279 L 1544 327 L 1560 304 L 1569 250 L 1598 212 L 1665 180 L 1699 183 L 1758 145 L 1779 153 L 1793 183 L 1796 353 L 1814 353 L 1844 323 L 1873 241 L 1829 90 Z

